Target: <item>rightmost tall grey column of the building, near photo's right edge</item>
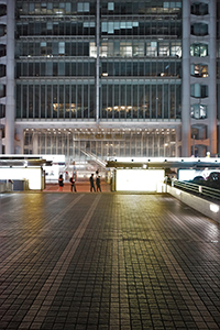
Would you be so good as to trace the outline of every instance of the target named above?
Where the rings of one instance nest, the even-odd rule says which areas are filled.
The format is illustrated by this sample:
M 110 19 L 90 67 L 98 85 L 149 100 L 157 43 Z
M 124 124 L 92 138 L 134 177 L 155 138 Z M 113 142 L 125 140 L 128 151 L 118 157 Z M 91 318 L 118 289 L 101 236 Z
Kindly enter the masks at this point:
M 217 4 L 209 0 L 209 106 L 208 106 L 208 138 L 211 156 L 217 154 Z

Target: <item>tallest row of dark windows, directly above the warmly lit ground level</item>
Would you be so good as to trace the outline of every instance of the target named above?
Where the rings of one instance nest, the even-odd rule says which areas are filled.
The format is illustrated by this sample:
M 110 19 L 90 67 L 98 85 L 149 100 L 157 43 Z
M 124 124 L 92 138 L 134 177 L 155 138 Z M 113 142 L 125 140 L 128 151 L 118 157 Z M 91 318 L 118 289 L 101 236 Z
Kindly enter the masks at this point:
M 180 118 L 182 86 L 102 85 L 100 118 Z M 16 118 L 95 118 L 94 85 L 16 85 Z

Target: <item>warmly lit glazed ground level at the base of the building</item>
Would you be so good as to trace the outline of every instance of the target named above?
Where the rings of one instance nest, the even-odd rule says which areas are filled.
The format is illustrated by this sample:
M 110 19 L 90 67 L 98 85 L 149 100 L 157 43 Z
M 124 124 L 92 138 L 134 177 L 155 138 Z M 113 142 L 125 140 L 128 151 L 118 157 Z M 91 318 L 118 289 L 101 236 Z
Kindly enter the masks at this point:
M 108 131 L 109 132 L 109 131 Z M 24 154 L 56 154 L 65 155 L 67 160 L 77 162 L 88 161 L 85 151 L 107 157 L 174 157 L 176 148 L 176 131 L 152 130 L 145 132 L 120 131 L 119 134 L 108 134 L 108 139 L 96 139 L 97 132 L 78 132 L 53 130 L 25 130 Z M 100 134 L 99 134 L 100 135 Z

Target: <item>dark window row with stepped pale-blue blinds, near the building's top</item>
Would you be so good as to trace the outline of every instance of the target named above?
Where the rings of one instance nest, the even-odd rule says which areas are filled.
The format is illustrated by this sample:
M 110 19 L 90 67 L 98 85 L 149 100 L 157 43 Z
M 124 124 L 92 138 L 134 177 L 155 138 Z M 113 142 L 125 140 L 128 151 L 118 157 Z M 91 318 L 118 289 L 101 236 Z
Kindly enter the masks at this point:
M 140 20 L 139 22 L 102 22 L 102 35 L 172 35 L 182 36 L 182 22 L 152 20 Z M 20 21 L 16 23 L 18 36 L 28 35 L 96 35 L 96 22 L 94 21 Z

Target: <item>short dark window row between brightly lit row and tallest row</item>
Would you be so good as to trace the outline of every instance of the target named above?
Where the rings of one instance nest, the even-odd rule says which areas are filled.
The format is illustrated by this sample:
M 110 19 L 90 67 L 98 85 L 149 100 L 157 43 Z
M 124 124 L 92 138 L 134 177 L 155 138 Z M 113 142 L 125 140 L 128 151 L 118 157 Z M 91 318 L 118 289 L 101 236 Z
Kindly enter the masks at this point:
M 102 77 L 182 77 L 182 63 L 166 62 L 102 62 L 100 75 Z M 6 67 L 4 67 L 6 68 Z M 196 73 L 195 68 L 195 73 Z M 3 74 L 2 68 L 2 74 Z M 21 62 L 16 63 L 16 78 L 19 77 L 54 77 L 54 76 L 90 76 L 95 77 L 95 62 Z M 202 69 L 205 74 L 205 69 Z

